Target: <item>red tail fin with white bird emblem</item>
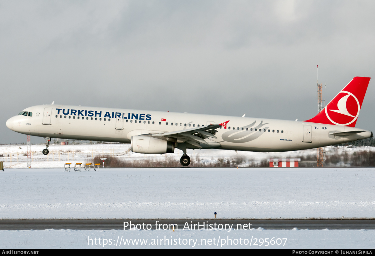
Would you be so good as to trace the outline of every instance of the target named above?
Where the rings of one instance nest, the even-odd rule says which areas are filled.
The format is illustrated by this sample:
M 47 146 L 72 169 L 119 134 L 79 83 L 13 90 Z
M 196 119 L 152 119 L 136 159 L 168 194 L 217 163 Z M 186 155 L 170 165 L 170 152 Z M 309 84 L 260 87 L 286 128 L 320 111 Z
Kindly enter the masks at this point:
M 369 77 L 356 76 L 319 114 L 305 122 L 354 127 L 369 82 Z

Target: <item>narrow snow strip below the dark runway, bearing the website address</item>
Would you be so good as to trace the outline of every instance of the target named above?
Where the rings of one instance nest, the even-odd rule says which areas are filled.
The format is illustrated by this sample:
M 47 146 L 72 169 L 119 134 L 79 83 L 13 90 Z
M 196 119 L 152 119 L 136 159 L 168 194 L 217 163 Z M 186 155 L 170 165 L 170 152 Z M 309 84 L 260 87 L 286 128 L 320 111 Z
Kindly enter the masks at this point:
M 0 231 L 0 247 L 3 250 L 12 248 L 371 249 L 374 248 L 374 237 L 374 230 L 364 229 L 264 230 L 259 228 L 247 231 L 231 230 L 230 232 L 228 230 L 178 230 L 172 232 L 169 230 L 47 229 L 43 231 Z M 370 250 L 366 250 L 366 252 L 370 252 Z M 331 254 L 335 254 L 335 252 Z M 338 254 L 341 255 L 341 250 Z M 357 252 L 357 254 L 359 253 Z

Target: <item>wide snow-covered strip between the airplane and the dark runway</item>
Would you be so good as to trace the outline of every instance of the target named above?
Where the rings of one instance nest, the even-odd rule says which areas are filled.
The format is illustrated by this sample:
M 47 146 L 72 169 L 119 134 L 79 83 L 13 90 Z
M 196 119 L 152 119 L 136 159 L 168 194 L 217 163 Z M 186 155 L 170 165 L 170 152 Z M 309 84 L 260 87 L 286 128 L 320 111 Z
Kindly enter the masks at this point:
M 375 217 L 374 170 L 8 168 L 0 218 Z

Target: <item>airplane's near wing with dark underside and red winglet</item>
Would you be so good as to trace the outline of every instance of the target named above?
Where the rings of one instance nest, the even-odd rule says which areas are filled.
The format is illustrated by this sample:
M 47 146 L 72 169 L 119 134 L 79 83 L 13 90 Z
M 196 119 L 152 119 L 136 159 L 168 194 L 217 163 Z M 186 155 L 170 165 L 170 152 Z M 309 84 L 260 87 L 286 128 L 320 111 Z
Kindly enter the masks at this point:
M 166 139 L 168 141 L 174 141 L 178 143 L 186 142 L 190 145 L 193 145 L 196 148 L 202 148 L 200 144 L 208 145 L 208 142 L 204 139 L 214 138 L 216 139 L 215 134 L 217 133 L 218 128 L 224 127 L 226 129 L 226 121 L 221 124 L 210 124 L 207 126 L 194 127 L 191 129 L 179 130 L 174 132 L 163 132 L 163 133 L 154 133 L 154 134 L 142 134 L 142 136 L 152 136 L 160 139 Z

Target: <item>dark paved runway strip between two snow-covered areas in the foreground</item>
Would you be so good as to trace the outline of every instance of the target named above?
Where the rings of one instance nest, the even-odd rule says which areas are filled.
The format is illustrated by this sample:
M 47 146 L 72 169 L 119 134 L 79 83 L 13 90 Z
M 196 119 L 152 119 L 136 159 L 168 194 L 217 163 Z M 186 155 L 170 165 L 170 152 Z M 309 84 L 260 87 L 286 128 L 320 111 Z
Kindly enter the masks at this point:
M 124 223 L 125 222 L 125 223 Z M 143 219 L 143 220 L 0 220 L 0 230 L 123 230 L 136 229 L 375 229 L 375 220 L 220 220 L 220 219 Z M 199 225 L 199 226 L 198 226 Z M 203 226 L 204 225 L 204 226 Z M 125 226 L 125 227 L 124 227 Z

